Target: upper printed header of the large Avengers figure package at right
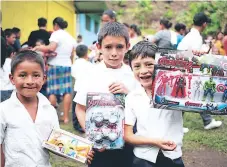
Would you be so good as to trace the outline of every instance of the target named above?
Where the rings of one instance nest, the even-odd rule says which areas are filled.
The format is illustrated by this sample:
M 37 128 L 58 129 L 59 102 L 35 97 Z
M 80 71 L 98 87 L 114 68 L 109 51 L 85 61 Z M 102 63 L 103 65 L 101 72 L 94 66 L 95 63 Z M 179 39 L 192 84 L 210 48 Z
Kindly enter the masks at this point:
M 227 76 L 227 57 L 205 54 L 196 56 L 191 50 L 177 51 L 161 49 L 155 55 L 158 68 L 166 70 L 183 70 L 188 73 Z

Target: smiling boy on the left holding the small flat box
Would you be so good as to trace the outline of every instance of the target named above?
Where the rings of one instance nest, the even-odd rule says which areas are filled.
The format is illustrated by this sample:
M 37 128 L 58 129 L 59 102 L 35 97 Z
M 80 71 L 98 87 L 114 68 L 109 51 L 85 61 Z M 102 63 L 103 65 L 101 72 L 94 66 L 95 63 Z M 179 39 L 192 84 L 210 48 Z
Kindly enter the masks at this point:
M 44 67 L 43 58 L 33 51 L 19 52 L 12 59 L 10 80 L 16 91 L 0 103 L 2 166 L 51 166 L 42 142 L 59 122 L 54 107 L 39 93 Z

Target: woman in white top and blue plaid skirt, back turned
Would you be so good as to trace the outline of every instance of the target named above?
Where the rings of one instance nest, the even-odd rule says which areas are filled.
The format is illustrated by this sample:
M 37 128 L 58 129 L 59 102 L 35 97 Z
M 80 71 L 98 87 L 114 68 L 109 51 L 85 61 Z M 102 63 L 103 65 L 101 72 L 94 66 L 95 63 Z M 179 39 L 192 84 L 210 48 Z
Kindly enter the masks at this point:
M 76 40 L 64 29 L 68 23 L 61 17 L 53 20 L 54 32 L 47 46 L 36 46 L 33 50 L 43 52 L 56 52 L 56 57 L 48 59 L 47 71 L 47 94 L 53 106 L 57 105 L 57 97 L 63 96 L 64 123 L 69 122 L 69 110 L 71 107 L 72 78 L 71 78 L 71 56 L 74 53 Z

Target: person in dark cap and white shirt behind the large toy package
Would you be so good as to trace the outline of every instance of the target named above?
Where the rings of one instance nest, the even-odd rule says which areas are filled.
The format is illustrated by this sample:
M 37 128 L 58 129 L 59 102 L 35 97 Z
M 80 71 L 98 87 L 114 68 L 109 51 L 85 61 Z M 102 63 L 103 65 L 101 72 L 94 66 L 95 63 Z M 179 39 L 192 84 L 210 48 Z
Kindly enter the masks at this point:
M 203 45 L 203 38 L 201 36 L 201 33 L 205 30 L 209 23 L 211 23 L 211 19 L 203 12 L 195 14 L 193 18 L 194 25 L 191 31 L 182 39 L 177 49 L 192 49 L 195 51 L 200 51 Z M 212 119 L 211 115 L 201 113 L 200 116 L 203 119 L 204 129 L 206 130 L 218 128 L 222 124 L 221 121 Z M 184 132 L 188 132 L 188 128 L 184 128 Z

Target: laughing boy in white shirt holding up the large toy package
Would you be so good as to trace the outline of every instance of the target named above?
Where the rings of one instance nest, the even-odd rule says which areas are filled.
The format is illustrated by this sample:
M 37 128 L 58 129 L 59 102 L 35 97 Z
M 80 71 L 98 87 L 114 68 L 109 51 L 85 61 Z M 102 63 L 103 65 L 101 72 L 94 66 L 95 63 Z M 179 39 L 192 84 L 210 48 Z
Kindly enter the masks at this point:
M 142 87 L 126 97 L 125 141 L 135 145 L 133 167 L 184 167 L 182 112 L 157 109 L 152 102 L 156 51 L 141 41 L 130 52 L 130 66 Z

